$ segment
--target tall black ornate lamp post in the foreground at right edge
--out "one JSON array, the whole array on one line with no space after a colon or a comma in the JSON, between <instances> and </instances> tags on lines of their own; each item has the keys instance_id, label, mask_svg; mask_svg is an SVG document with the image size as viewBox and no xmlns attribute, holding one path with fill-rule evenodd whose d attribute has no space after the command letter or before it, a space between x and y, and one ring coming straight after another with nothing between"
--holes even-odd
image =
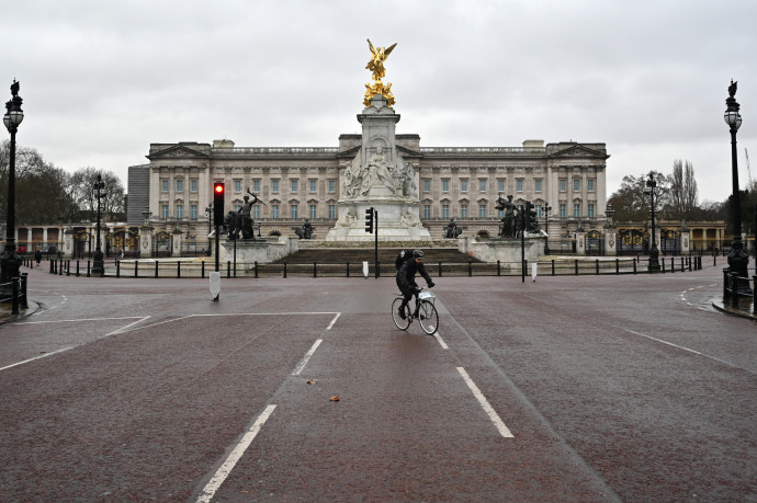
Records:
<instances>
[{"instance_id":1,"label":"tall black ornate lamp post in the foreground at right edge","mask_svg":"<svg viewBox=\"0 0 757 503\"><path fill-rule=\"evenodd\" d=\"M725 99L725 114L723 115L725 124L731 128L731 175L733 179L733 241L731 242L728 265L731 272L738 274L738 293L752 294L747 271L749 255L744 251L744 243L742 242L742 203L738 194L738 158L736 156L736 132L742 125L742 115L738 113L739 105L735 98L736 83L731 80L728 98Z\"/></svg>"}]
</instances>

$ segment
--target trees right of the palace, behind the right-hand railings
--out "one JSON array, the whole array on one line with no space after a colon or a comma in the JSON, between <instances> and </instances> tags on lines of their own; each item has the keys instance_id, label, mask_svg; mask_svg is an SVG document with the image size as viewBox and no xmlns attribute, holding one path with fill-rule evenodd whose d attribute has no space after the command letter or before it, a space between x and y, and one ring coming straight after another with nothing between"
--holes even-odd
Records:
<instances>
[{"instance_id":1,"label":"trees right of the palace, behind the right-hand railings","mask_svg":"<svg viewBox=\"0 0 757 503\"><path fill-rule=\"evenodd\" d=\"M655 219L707 221L725 220L727 232L733 232L734 220L732 198L723 202L699 203L699 191L691 162L676 159L670 174L652 171L657 183L655 190ZM652 210L651 197L645 193L649 173L639 176L625 175L620 188L608 199L608 206L615 212L615 221L646 221ZM755 231L755 205L757 205L757 181L750 181L739 191L742 207L742 231Z\"/></svg>"}]
</instances>

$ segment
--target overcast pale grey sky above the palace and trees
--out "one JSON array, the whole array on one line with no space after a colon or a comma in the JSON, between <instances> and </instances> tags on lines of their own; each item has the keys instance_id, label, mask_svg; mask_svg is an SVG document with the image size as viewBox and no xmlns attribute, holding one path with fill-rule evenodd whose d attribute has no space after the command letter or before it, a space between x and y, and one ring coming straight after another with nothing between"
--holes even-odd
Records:
<instances>
[{"instance_id":1,"label":"overcast pale grey sky above the palace and trees","mask_svg":"<svg viewBox=\"0 0 757 503\"><path fill-rule=\"evenodd\" d=\"M25 0L3 10L0 99L21 82L19 146L126 186L150 142L336 147L360 132L366 38L396 42L384 82L422 147L606 142L608 194L683 159L722 201L732 78L757 178L756 20L754 0Z\"/></svg>"}]
</instances>

